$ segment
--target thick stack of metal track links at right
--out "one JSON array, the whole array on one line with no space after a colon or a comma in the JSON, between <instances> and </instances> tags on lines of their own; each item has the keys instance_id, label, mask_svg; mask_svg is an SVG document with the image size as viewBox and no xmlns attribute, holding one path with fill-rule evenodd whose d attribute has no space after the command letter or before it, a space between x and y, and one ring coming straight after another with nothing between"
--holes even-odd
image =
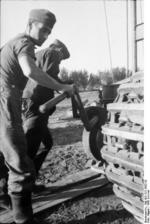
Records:
<instances>
[{"instance_id":1,"label":"thick stack of metal track links at right","mask_svg":"<svg viewBox=\"0 0 150 224\"><path fill-rule=\"evenodd\" d=\"M102 127L105 174L126 210L141 223L144 218L144 90L143 74L118 88L107 105L108 122Z\"/></svg>"}]
</instances>

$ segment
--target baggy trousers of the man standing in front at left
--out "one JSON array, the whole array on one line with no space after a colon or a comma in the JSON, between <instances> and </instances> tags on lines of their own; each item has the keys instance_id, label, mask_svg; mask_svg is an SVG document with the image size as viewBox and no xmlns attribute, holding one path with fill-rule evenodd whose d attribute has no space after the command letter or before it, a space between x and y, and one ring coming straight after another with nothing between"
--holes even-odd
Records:
<instances>
[{"instance_id":1,"label":"baggy trousers of the man standing in front at left","mask_svg":"<svg viewBox=\"0 0 150 224\"><path fill-rule=\"evenodd\" d=\"M27 141L21 117L22 91L17 88L1 89L0 97L0 153L8 171L8 194L32 191L35 181L33 161L27 154ZM0 176L2 170L0 171Z\"/></svg>"}]
</instances>

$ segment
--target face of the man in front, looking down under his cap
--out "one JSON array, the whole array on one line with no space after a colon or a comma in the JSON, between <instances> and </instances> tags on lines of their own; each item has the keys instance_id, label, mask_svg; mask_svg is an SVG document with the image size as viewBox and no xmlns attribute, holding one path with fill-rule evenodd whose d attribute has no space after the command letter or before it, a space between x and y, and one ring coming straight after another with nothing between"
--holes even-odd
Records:
<instances>
[{"instance_id":1,"label":"face of the man in front, looking down under his cap","mask_svg":"<svg viewBox=\"0 0 150 224\"><path fill-rule=\"evenodd\" d=\"M51 33L51 29L43 23L33 22L31 24L30 36L34 39L36 45L41 46Z\"/></svg>"}]
</instances>

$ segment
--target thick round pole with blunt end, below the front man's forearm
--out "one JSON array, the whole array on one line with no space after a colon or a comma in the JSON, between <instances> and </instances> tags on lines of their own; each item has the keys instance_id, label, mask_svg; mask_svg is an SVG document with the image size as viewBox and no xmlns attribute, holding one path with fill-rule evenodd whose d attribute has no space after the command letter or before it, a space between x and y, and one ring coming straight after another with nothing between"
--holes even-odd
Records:
<instances>
[{"instance_id":1,"label":"thick round pole with blunt end, below the front man's forearm","mask_svg":"<svg viewBox=\"0 0 150 224\"><path fill-rule=\"evenodd\" d=\"M59 96L56 96L55 98L47 101L46 103L42 104L39 107L39 111L41 113L46 113L48 110L50 110L51 108L53 108L56 104L58 104L59 102L61 102L62 100L64 100L67 97L66 93L62 93Z\"/></svg>"}]
</instances>

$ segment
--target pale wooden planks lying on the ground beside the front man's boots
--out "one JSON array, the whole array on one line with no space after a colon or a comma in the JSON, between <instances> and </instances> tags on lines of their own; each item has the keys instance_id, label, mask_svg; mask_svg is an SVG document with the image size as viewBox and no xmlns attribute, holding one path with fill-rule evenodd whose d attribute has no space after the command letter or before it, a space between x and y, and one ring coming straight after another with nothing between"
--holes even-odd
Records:
<instances>
[{"instance_id":1,"label":"pale wooden planks lying on the ground beside the front man's boots","mask_svg":"<svg viewBox=\"0 0 150 224\"><path fill-rule=\"evenodd\" d=\"M88 173L89 171L89 173ZM83 178L82 175L83 174ZM96 179L92 179L93 178ZM71 175L70 175L71 176ZM66 180L66 182L65 182ZM82 181L88 180L88 182L84 183ZM78 184L77 184L78 183ZM65 178L62 181L58 181L54 184L49 184L47 189L41 194L37 194L33 196L33 211L34 214L42 212L45 209L51 208L52 206L58 205L62 202L85 194L88 191L91 191L95 188L101 187L104 184L107 184L108 180L106 177L101 176L97 172L94 172L91 169L86 171L81 171L75 175L72 175L72 178ZM59 185L58 185L59 184ZM75 186L74 186L75 184ZM66 187L70 185L70 189L66 189ZM52 187L56 187L55 193L51 192ZM57 191L62 188L61 192ZM0 212L0 223L11 223L12 213L10 211L3 210Z\"/></svg>"}]
</instances>

